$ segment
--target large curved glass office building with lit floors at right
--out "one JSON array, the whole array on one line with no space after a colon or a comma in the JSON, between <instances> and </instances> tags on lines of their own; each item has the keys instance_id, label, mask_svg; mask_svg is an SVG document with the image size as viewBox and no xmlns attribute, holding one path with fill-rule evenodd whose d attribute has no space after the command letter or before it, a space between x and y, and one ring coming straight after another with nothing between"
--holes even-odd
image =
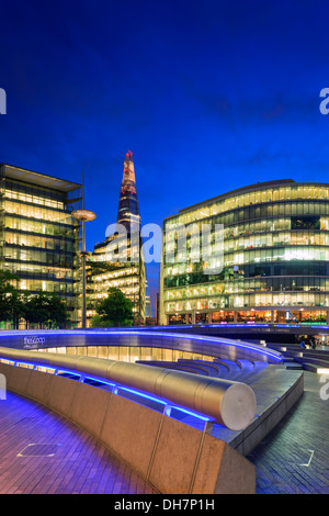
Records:
<instances>
[{"instance_id":1,"label":"large curved glass office building with lit floors at right","mask_svg":"<svg viewBox=\"0 0 329 516\"><path fill-rule=\"evenodd\" d=\"M200 234L224 225L220 271L205 273L207 263L193 259L190 224ZM183 259L180 237L168 242L173 225L188 228ZM329 322L327 183L262 182L183 209L163 222L163 255L166 245L174 260L162 259L161 324Z\"/></svg>"}]
</instances>

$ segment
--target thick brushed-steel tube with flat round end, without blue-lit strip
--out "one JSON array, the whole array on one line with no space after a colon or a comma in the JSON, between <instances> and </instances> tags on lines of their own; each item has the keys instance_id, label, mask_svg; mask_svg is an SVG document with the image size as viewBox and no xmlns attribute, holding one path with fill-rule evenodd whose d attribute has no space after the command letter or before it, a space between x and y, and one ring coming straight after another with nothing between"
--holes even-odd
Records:
<instances>
[{"instance_id":1,"label":"thick brushed-steel tube with flat round end, without blue-lit strip","mask_svg":"<svg viewBox=\"0 0 329 516\"><path fill-rule=\"evenodd\" d=\"M256 395L241 382L102 358L2 347L0 357L111 380L214 417L231 430L245 429L256 415Z\"/></svg>"}]
</instances>

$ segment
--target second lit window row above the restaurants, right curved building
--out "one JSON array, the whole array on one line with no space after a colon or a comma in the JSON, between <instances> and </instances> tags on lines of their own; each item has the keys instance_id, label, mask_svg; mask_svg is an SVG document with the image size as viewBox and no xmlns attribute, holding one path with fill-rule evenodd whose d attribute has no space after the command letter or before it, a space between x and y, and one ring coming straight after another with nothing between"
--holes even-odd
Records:
<instances>
[{"instance_id":1,"label":"second lit window row above the restaurants, right curved building","mask_svg":"<svg viewBox=\"0 0 329 516\"><path fill-rule=\"evenodd\" d=\"M192 298L213 296L232 293L250 292L329 292L329 278L265 278L242 281L218 282L211 285L194 285L190 288L170 289L164 292L164 300L188 300Z\"/></svg>"}]
</instances>

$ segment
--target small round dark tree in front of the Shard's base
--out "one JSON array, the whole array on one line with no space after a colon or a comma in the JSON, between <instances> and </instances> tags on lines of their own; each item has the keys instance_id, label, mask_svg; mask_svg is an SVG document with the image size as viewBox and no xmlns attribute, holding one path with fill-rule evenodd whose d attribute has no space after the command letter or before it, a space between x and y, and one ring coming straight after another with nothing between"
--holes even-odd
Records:
<instances>
[{"instance_id":1,"label":"small round dark tree in front of the Shard's base","mask_svg":"<svg viewBox=\"0 0 329 516\"><path fill-rule=\"evenodd\" d=\"M134 321L133 302L116 288L109 290L109 295L98 306L99 323L109 326L129 326Z\"/></svg>"}]
</instances>

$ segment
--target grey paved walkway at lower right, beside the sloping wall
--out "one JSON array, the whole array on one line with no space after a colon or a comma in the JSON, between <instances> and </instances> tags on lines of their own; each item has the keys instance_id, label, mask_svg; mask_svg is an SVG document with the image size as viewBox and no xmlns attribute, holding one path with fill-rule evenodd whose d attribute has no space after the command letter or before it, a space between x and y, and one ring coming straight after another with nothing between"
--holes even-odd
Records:
<instances>
[{"instance_id":1,"label":"grey paved walkway at lower right, beside the sloping wall","mask_svg":"<svg viewBox=\"0 0 329 516\"><path fill-rule=\"evenodd\" d=\"M329 493L329 375L304 372L304 394L253 449L258 494Z\"/></svg>"}]
</instances>

